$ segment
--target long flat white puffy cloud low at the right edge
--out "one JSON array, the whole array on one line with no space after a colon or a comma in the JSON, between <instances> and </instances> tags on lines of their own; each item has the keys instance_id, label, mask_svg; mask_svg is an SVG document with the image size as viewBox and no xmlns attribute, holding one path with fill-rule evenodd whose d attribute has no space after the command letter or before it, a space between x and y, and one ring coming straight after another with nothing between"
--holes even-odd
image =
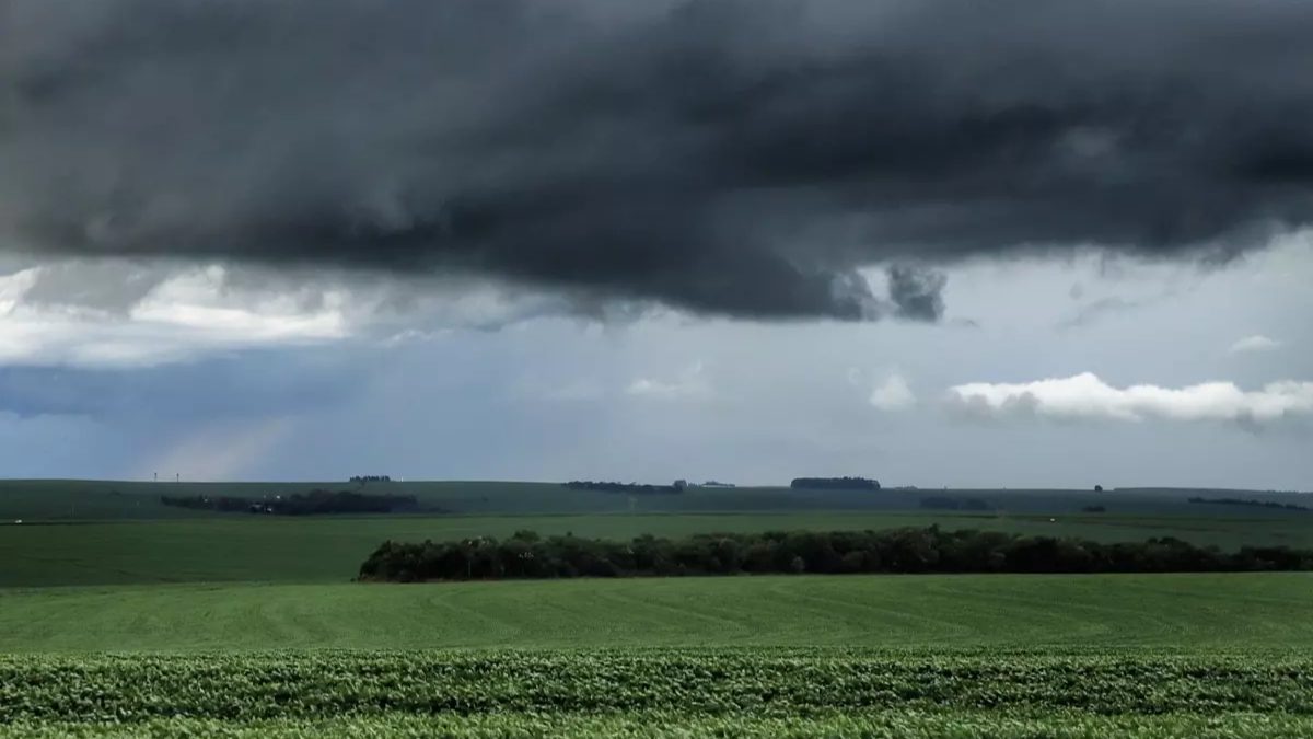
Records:
<instances>
[{"instance_id":1,"label":"long flat white puffy cloud low at the right edge","mask_svg":"<svg viewBox=\"0 0 1313 739\"><path fill-rule=\"evenodd\" d=\"M1061 419L1234 421L1270 423L1313 416L1313 383L1279 381L1258 391L1234 383L1201 383L1183 388L1112 387L1096 375L1033 383L969 383L948 391L961 410L986 416L1033 414Z\"/></svg>"}]
</instances>

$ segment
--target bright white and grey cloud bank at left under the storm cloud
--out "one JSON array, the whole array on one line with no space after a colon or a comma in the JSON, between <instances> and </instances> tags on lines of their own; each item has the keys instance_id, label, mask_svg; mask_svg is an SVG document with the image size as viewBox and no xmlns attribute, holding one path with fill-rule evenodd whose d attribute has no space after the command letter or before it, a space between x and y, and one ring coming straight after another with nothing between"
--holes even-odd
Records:
<instances>
[{"instance_id":1,"label":"bright white and grey cloud bank at left under the storm cloud","mask_svg":"<svg viewBox=\"0 0 1313 739\"><path fill-rule=\"evenodd\" d=\"M0 271L0 366L154 367L351 338L395 346L562 312L559 298L474 280L51 262Z\"/></svg>"}]
</instances>

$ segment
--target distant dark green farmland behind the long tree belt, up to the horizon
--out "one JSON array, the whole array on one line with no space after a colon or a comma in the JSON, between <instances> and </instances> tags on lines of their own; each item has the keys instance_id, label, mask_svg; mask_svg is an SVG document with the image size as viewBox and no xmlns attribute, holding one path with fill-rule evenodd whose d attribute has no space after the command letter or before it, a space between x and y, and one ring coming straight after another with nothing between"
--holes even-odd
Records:
<instances>
[{"instance_id":1,"label":"distant dark green farmland behind the long tree belt, up to the horizon","mask_svg":"<svg viewBox=\"0 0 1313 739\"><path fill-rule=\"evenodd\" d=\"M416 496L445 512L274 517L160 504L160 496L293 494L314 488ZM0 586L129 583L344 583L385 540L540 534L632 539L714 531L930 526L1103 542L1176 536L1197 544L1313 547L1313 513L1194 505L1199 490L790 490L693 488L629 496L550 483L0 481ZM999 510L926 510L923 496L982 498ZM1259 493L1242 493L1241 497ZM1229 493L1237 496L1237 493ZM1279 500L1288 500L1279 498ZM1302 498L1295 498L1302 500ZM1098 502L1103 513L1083 513ZM16 523L22 521L21 523Z\"/></svg>"}]
</instances>

